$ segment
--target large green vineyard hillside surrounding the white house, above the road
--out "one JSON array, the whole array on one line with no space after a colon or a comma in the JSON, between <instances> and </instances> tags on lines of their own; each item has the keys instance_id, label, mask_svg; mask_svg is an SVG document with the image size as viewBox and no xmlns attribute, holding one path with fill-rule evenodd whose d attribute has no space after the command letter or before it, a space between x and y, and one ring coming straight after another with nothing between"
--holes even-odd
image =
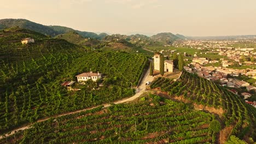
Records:
<instances>
[{"instance_id":1,"label":"large green vineyard hillside surrounding the white house, above the road","mask_svg":"<svg viewBox=\"0 0 256 144\"><path fill-rule=\"evenodd\" d=\"M143 55L87 52L66 40L30 31L1 34L0 134L39 118L128 97L147 64ZM28 36L35 43L22 45L20 40ZM76 80L75 75L90 70L104 75L103 87L76 84L82 89L78 92L61 87L63 81Z\"/></svg>"}]
</instances>

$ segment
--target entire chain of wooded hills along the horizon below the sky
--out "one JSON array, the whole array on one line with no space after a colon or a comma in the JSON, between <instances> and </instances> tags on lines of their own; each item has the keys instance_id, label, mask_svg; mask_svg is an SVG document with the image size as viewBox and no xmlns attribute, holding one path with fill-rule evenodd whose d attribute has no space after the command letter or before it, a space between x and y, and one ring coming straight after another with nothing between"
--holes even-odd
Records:
<instances>
[{"instance_id":1,"label":"entire chain of wooded hills along the horizon below the sky","mask_svg":"<svg viewBox=\"0 0 256 144\"><path fill-rule=\"evenodd\" d=\"M56 37L60 34L75 32L81 35L84 38L94 38L103 41L112 41L117 39L124 39L129 43L136 45L145 45L145 44L153 44L160 43L164 45L168 45L173 43L174 40L177 39L185 39L184 35L181 34L172 34L172 33L159 33L153 35L152 37L148 37L142 34L133 34L133 35L122 35L122 34L112 34L108 35L107 33L96 34L92 32L83 32L78 31L73 28L63 27L63 26L45 26L36 22L28 21L25 19L2 19L0 20L0 29L11 28L11 27L20 27L30 29L32 31L36 31L42 33L44 35L51 35L51 37ZM70 38L69 38L70 39Z\"/></svg>"}]
</instances>

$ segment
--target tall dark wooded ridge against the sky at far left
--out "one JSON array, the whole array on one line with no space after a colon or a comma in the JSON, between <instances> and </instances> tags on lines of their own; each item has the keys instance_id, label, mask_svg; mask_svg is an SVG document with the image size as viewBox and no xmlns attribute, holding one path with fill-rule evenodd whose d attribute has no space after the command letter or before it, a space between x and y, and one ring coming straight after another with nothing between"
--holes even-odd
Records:
<instances>
[{"instance_id":1,"label":"tall dark wooded ridge against the sky at far left","mask_svg":"<svg viewBox=\"0 0 256 144\"><path fill-rule=\"evenodd\" d=\"M21 28L30 29L32 31L36 31L45 35L51 35L52 37L55 37L56 35L68 33L68 32L77 32L83 37L88 38L97 38L101 39L102 35L98 36L96 33L92 32L82 32L77 31L75 29L69 28L69 27L62 27L62 26L44 26L36 22L28 21L25 19L2 19L0 20L0 29L5 27L16 27L19 26Z\"/></svg>"}]
</instances>

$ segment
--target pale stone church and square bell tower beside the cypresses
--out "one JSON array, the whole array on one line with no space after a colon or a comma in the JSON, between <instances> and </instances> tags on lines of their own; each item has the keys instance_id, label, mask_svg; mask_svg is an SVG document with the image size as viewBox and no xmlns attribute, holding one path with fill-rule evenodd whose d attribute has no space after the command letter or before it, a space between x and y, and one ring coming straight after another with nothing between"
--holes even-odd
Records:
<instances>
[{"instance_id":1,"label":"pale stone church and square bell tower beside the cypresses","mask_svg":"<svg viewBox=\"0 0 256 144\"><path fill-rule=\"evenodd\" d=\"M172 61L165 60L164 65L165 65L165 72L173 72L174 65L173 65ZM160 70L160 55L159 54L154 55L154 69Z\"/></svg>"}]
</instances>

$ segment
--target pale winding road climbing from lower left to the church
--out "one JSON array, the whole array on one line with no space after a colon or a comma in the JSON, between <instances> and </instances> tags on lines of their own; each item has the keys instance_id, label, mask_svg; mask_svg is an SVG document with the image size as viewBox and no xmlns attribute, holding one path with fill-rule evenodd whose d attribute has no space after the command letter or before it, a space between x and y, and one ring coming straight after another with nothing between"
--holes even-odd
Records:
<instances>
[{"instance_id":1,"label":"pale winding road climbing from lower left to the church","mask_svg":"<svg viewBox=\"0 0 256 144\"><path fill-rule=\"evenodd\" d=\"M129 102L129 101L132 101L132 100L135 100L136 98L138 98L142 93L144 93L146 91L146 82L147 81L153 81L154 77L152 76L149 76L149 68L146 72L146 74L144 75L141 83L139 84L137 90L136 90L136 94L133 95L132 97L130 98L126 98L126 99L122 99L122 100L118 100L118 101L115 101L114 104L121 104L121 103L126 103L126 102ZM110 104L103 104L104 107L109 107ZM82 112L82 111L87 111L87 110L91 110L91 109L94 109L98 106L95 106L95 107L91 107L91 108L87 108L87 109L83 109L83 110L78 110L78 111L73 111L73 112L68 112L68 113L63 113L63 114L60 114L60 115L57 115L57 116L53 116L53 117L48 117L48 118L44 118L44 119L39 119L37 122L44 122L44 121L47 121L48 119L50 118L56 118L56 117L61 117L61 116L66 116L66 115L72 115L74 113L79 113L79 112ZM32 124L33 125L33 124ZM28 124L24 127L20 127L18 129L15 129L13 131L10 131L9 134L5 134L5 136L10 136L10 135L13 135L15 133L15 131L19 131L19 130L25 130L25 129L28 129L31 127L31 124ZM0 136L0 139L3 139L4 136L1 135Z\"/></svg>"}]
</instances>

